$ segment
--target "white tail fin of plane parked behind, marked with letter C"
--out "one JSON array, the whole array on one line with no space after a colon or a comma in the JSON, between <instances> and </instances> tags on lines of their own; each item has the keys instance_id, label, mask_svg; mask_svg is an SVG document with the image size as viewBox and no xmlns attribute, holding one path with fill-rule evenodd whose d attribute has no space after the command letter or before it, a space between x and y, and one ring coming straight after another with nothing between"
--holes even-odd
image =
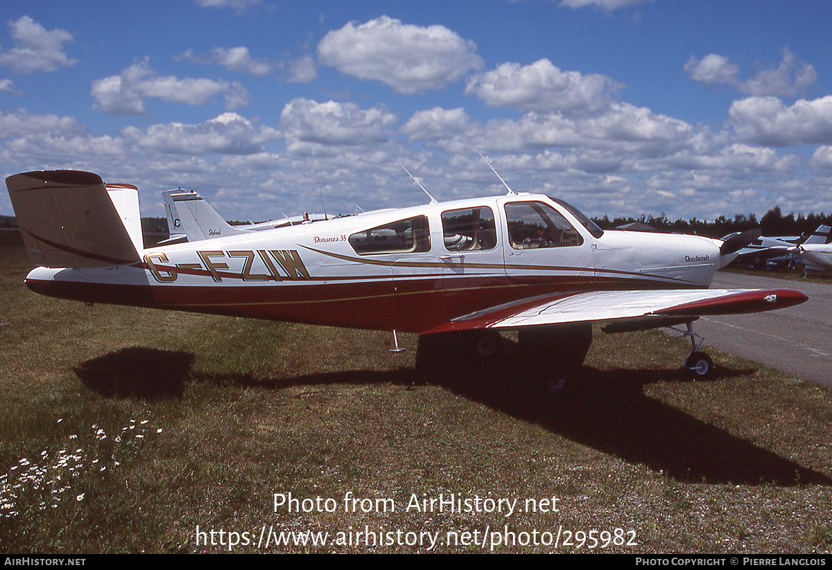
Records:
<instances>
[{"instance_id":1,"label":"white tail fin of plane parked behind, marked with letter C","mask_svg":"<svg viewBox=\"0 0 832 570\"><path fill-rule=\"evenodd\" d=\"M220 214L193 190L166 190L161 195L165 202L171 243L181 234L186 235L189 242L196 242L201 239L245 233L245 230L235 228L220 218Z\"/></svg>"}]
</instances>

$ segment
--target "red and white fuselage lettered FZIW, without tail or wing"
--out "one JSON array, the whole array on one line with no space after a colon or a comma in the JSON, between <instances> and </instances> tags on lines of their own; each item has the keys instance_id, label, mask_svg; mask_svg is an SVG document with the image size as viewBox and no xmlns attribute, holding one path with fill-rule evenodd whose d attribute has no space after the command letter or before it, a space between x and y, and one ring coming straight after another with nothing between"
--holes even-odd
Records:
<instances>
[{"instance_id":1,"label":"red and white fuselage lettered FZIW, without tail or wing","mask_svg":"<svg viewBox=\"0 0 832 570\"><path fill-rule=\"evenodd\" d=\"M547 196L512 194L220 234L147 248L138 263L35 268L27 285L84 302L426 332L558 292L708 287L720 243L601 233Z\"/></svg>"}]
</instances>

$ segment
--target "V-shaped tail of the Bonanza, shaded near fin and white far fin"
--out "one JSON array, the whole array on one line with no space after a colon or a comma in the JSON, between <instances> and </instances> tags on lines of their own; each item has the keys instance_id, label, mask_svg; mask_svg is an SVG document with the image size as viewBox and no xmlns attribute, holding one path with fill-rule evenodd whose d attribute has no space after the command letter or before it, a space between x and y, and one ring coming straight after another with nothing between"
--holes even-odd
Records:
<instances>
[{"instance_id":1,"label":"V-shaped tail of the Bonanza, shaded near fin and white far fin","mask_svg":"<svg viewBox=\"0 0 832 570\"><path fill-rule=\"evenodd\" d=\"M6 185L32 263L99 268L140 260L135 186L105 186L98 174L77 170L14 174Z\"/></svg>"}]
</instances>

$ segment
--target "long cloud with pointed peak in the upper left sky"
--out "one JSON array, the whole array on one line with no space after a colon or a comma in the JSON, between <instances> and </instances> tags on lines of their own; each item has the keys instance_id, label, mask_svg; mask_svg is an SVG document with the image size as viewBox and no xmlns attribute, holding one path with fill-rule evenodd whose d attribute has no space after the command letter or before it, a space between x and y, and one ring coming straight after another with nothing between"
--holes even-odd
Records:
<instances>
[{"instance_id":1,"label":"long cloud with pointed peak in the upper left sky","mask_svg":"<svg viewBox=\"0 0 832 570\"><path fill-rule=\"evenodd\" d=\"M93 81L90 95L95 99L96 107L110 115L141 115L146 110L145 100L149 98L205 105L215 96L224 95L229 111L250 102L248 91L240 83L156 76L147 59L119 75Z\"/></svg>"}]
</instances>

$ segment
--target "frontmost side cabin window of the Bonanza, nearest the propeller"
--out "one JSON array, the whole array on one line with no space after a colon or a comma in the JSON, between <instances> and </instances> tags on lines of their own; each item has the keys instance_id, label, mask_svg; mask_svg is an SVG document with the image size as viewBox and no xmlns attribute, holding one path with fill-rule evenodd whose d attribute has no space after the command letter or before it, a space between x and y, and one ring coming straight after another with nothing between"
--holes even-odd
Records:
<instances>
[{"instance_id":1,"label":"frontmost side cabin window of the Bonanza, nearest the propeller","mask_svg":"<svg viewBox=\"0 0 832 570\"><path fill-rule=\"evenodd\" d=\"M556 209L542 202L509 202L505 206L508 242L515 249L581 245L583 238Z\"/></svg>"}]
</instances>

